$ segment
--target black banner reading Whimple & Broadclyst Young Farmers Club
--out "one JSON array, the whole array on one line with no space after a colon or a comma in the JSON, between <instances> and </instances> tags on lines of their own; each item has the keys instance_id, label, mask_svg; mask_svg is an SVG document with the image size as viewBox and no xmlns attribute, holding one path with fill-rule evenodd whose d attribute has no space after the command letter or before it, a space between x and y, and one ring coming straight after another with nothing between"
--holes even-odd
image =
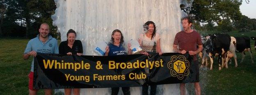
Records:
<instances>
[{"instance_id":1,"label":"black banner reading Whimple & Broadclyst Young Farmers Club","mask_svg":"<svg viewBox=\"0 0 256 95\"><path fill-rule=\"evenodd\" d=\"M109 88L198 81L198 64L189 54L69 56L38 53L34 88Z\"/></svg>"}]
</instances>

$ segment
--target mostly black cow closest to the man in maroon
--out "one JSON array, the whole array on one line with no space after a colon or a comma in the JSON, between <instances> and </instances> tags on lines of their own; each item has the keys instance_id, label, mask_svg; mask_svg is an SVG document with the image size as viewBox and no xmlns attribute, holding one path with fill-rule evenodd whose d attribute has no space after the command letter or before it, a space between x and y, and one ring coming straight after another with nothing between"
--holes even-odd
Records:
<instances>
[{"instance_id":1,"label":"mostly black cow closest to the man in maroon","mask_svg":"<svg viewBox=\"0 0 256 95\"><path fill-rule=\"evenodd\" d=\"M218 57L219 70L220 66L224 66L224 60L228 58L228 51L230 47L231 37L229 34L213 34L203 43L203 48L210 57L210 70L213 69L213 58ZM221 64L222 63L222 64Z\"/></svg>"}]
</instances>

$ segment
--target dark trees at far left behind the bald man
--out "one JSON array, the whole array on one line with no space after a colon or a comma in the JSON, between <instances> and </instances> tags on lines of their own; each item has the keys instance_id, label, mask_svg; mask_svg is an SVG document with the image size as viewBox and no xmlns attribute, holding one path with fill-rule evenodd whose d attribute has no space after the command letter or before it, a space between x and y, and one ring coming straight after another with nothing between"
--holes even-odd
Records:
<instances>
[{"instance_id":1,"label":"dark trees at far left behind the bald man","mask_svg":"<svg viewBox=\"0 0 256 95\"><path fill-rule=\"evenodd\" d=\"M6 5L6 11L1 15L3 17L1 20L3 23L0 25L1 34L2 30L7 34L17 34L20 32L19 29L25 27L25 36L28 38L38 34L41 23L48 23L50 28L55 30L50 17L56 9L54 0L1 0L0 2ZM0 8L4 9L2 5Z\"/></svg>"}]
</instances>

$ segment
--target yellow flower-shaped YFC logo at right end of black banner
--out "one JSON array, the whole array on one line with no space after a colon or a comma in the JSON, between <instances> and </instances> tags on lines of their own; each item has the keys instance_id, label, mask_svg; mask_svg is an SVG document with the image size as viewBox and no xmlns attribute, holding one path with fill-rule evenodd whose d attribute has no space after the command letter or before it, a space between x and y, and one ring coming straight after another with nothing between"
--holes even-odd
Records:
<instances>
[{"instance_id":1,"label":"yellow flower-shaped YFC logo at right end of black banner","mask_svg":"<svg viewBox=\"0 0 256 95\"><path fill-rule=\"evenodd\" d=\"M188 68L190 67L190 62L183 55L178 57L172 56L171 61L167 63L167 67L171 70L171 76L178 77L181 80L189 75Z\"/></svg>"}]
</instances>

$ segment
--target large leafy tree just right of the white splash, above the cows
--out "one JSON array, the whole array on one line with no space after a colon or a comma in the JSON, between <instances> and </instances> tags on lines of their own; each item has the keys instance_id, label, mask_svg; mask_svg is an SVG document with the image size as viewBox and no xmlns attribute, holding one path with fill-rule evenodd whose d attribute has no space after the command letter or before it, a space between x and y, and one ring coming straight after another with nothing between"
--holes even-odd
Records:
<instances>
[{"instance_id":1,"label":"large leafy tree just right of the white splash, above the cows","mask_svg":"<svg viewBox=\"0 0 256 95\"><path fill-rule=\"evenodd\" d=\"M220 22L227 18L239 20L241 4L242 0L194 0L190 16L201 23Z\"/></svg>"}]
</instances>

